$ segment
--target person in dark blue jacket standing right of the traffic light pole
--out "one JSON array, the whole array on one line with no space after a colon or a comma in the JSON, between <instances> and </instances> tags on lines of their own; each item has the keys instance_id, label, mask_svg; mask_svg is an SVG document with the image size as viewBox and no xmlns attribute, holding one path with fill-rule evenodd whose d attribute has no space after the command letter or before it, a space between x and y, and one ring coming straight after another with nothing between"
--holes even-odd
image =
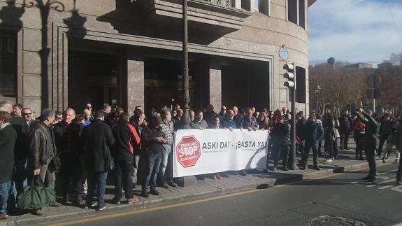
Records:
<instances>
[{"instance_id":1,"label":"person in dark blue jacket standing right of the traffic light pole","mask_svg":"<svg viewBox=\"0 0 402 226\"><path fill-rule=\"evenodd\" d=\"M303 156L301 157L301 168L300 169L306 169L307 167L307 160L308 160L308 154L310 153L310 148L313 149L313 164L315 170L320 170L320 167L318 167L318 142L320 141L320 138L322 134L324 134L324 128L322 128L322 125L320 122L316 121L315 114L310 115L308 118L306 124L304 125L304 132L306 136L304 138L306 139L306 146L305 150L303 151Z\"/></svg>"}]
</instances>

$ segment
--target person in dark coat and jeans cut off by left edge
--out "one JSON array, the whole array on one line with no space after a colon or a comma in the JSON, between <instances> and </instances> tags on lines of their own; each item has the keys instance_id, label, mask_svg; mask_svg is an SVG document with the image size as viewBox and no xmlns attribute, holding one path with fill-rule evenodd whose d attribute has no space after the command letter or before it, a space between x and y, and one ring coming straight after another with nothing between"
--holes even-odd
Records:
<instances>
[{"instance_id":1,"label":"person in dark coat and jeans cut off by left edge","mask_svg":"<svg viewBox=\"0 0 402 226\"><path fill-rule=\"evenodd\" d=\"M17 132L10 125L11 115L0 111L0 220L8 218L7 202L14 169L14 146Z\"/></svg>"}]
</instances>

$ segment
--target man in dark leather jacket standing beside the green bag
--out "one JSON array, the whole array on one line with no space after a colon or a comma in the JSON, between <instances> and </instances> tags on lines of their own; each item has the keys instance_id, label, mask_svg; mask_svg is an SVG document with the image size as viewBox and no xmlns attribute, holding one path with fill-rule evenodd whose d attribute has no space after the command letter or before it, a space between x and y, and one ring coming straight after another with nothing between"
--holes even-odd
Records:
<instances>
[{"instance_id":1,"label":"man in dark leather jacket standing beside the green bag","mask_svg":"<svg viewBox=\"0 0 402 226\"><path fill-rule=\"evenodd\" d=\"M45 185L50 189L55 189L55 167L52 162L57 155L55 136L51 124L55 120L55 111L44 109L38 122L31 123L29 131L29 158L28 164L30 174L38 175ZM33 178L31 178L33 180ZM59 207L62 204L55 203L52 206ZM41 209L34 211L36 215L43 215Z\"/></svg>"}]
</instances>

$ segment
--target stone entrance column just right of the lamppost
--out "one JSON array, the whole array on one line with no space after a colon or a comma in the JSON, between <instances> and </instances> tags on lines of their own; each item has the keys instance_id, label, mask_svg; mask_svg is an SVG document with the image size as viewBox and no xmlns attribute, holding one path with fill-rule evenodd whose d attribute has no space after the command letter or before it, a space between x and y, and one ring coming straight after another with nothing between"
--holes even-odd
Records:
<instances>
[{"instance_id":1,"label":"stone entrance column just right of the lamppost","mask_svg":"<svg viewBox=\"0 0 402 226\"><path fill-rule=\"evenodd\" d=\"M222 71L220 61L210 59L209 66L209 103L215 111L222 106Z\"/></svg>"}]
</instances>

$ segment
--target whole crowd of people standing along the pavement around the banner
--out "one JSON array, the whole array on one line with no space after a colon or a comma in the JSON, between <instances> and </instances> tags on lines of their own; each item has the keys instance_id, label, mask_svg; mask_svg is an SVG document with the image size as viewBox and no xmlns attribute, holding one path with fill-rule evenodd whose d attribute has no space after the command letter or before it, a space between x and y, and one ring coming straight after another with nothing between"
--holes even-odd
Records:
<instances>
[{"instance_id":1,"label":"whole crowd of people standing along the pavement around the banner","mask_svg":"<svg viewBox=\"0 0 402 226\"><path fill-rule=\"evenodd\" d=\"M93 111L87 102L76 112L67 108L63 113L43 109L34 118L31 108L21 104L0 102L0 219L8 218L8 211L15 211L19 195L27 181L41 179L50 189L57 190L62 206L74 202L85 209L106 208L105 190L108 174L113 172L114 204L132 204L139 199L134 187L141 184L141 196L159 195L157 187L175 187L173 181L173 138L175 130L182 129L183 110L178 104L173 108L152 108L147 115L141 106L134 114L117 106L104 104ZM310 149L313 150L313 169L320 170L318 157L326 162L336 160L338 149L348 150L348 139L353 134L356 142L356 160L366 160L370 172L365 180L375 181L375 158L385 160L393 146L402 150L402 118L392 113L376 118L371 111L359 108L353 117L347 110L340 116L328 108L324 115L311 112L306 119L303 111L292 119L286 108L258 112L254 107L239 109L222 106L215 113L213 105L198 111L189 111L192 129L264 129L270 134L268 159L273 162L267 170L275 171L282 160L282 170L293 169L292 120L296 120L296 150L301 155L299 168L308 167ZM379 146L377 136L379 130ZM339 143L338 143L339 140ZM387 146L383 151L383 146ZM324 153L322 153L324 142ZM397 161L400 159L397 153ZM377 154L377 155L375 155ZM401 169L396 181L401 181ZM238 174L246 175L245 171ZM221 179L220 174L210 175ZM124 190L124 193L123 193ZM86 195L86 200L83 197ZM96 201L94 202L94 196ZM33 211L43 215L41 209Z\"/></svg>"}]
</instances>

